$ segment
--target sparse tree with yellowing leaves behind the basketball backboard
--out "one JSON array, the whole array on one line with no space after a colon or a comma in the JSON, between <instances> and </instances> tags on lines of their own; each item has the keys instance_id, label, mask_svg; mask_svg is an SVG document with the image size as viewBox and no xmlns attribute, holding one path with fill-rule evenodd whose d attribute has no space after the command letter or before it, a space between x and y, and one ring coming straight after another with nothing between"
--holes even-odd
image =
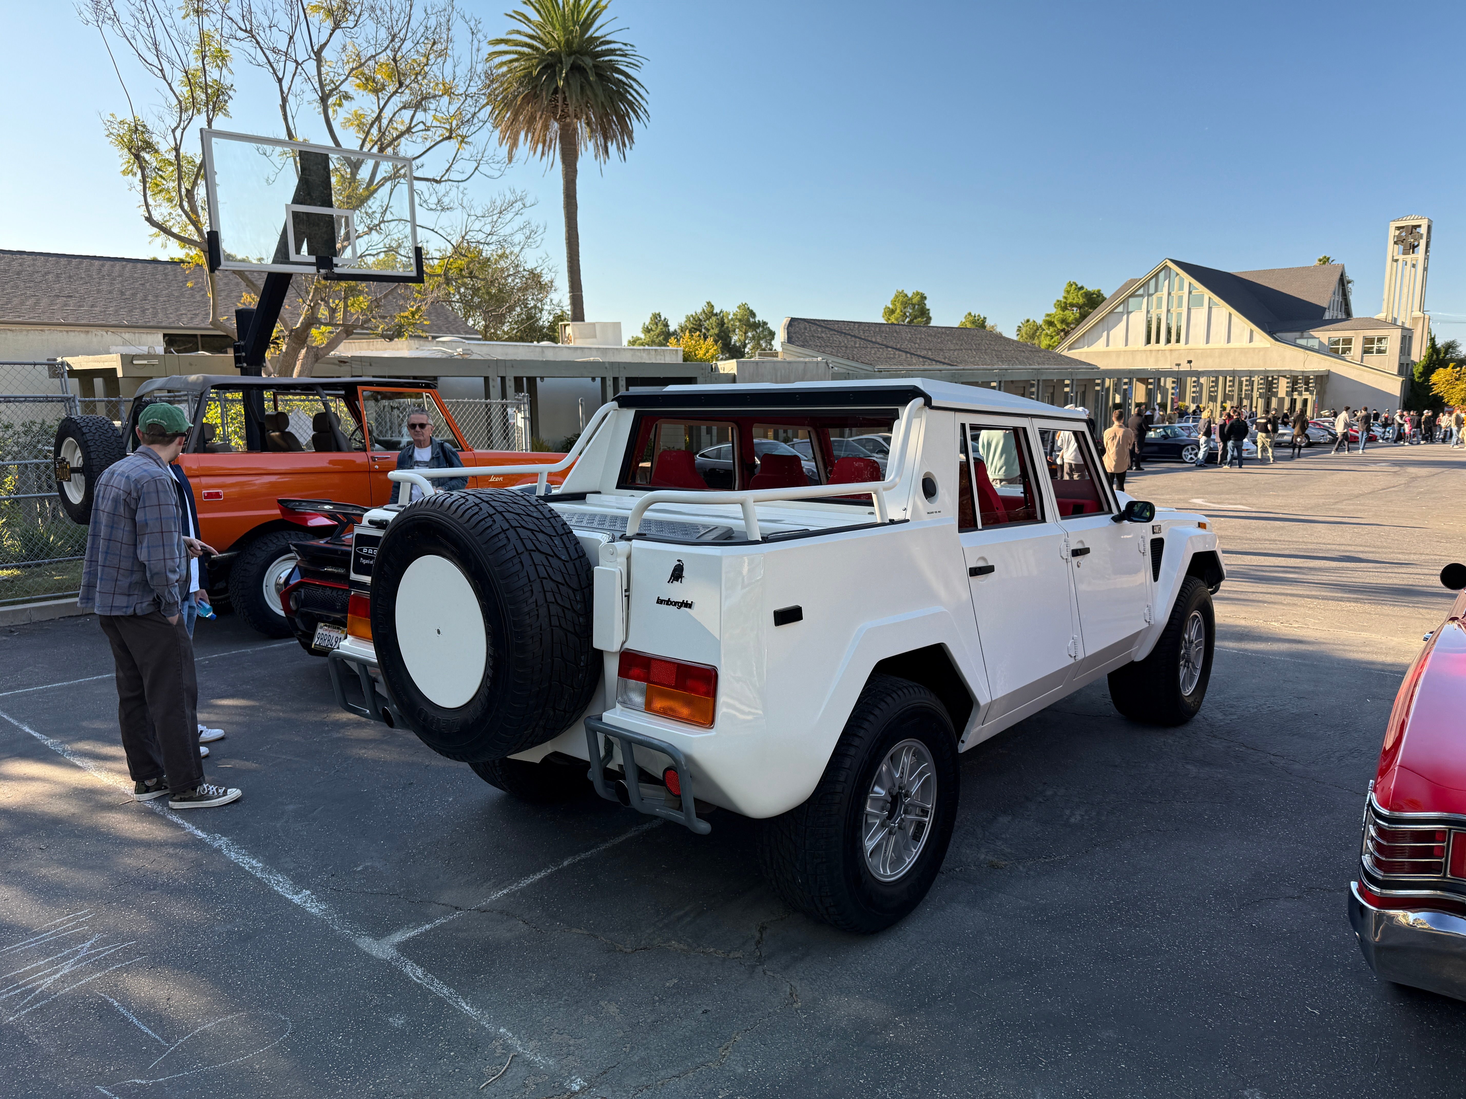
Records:
<instances>
[{"instance_id":1,"label":"sparse tree with yellowing leaves behind the basketball backboard","mask_svg":"<svg viewBox=\"0 0 1466 1099\"><path fill-rule=\"evenodd\" d=\"M198 130L229 119L240 64L276 89L274 101L261 106L279 119L286 139L415 161L419 236L430 262L465 246L490 255L534 245L538 230L523 221L523 195L507 192L485 204L463 196L469 180L496 167L488 108L494 81L476 23L452 0L82 0L79 13L108 50L130 56L135 64L123 72L142 73L142 88L123 82L128 113L107 116L107 141L154 239L198 270L210 293L210 324L230 338L235 308L254 305L262 280L207 270ZM353 182L358 234L387 226L390 199L402 185L390 170ZM388 338L421 331L428 303L443 293L441 280L405 287L296 275L268 369L309 375L358 331Z\"/></svg>"}]
</instances>

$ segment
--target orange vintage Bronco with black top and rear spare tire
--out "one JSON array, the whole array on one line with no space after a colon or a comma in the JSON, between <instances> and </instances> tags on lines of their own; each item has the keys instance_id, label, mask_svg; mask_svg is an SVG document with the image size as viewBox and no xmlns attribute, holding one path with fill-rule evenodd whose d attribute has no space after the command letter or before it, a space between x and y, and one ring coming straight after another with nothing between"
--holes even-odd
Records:
<instances>
[{"instance_id":1,"label":"orange vintage Bronco with black top and rear spare tire","mask_svg":"<svg viewBox=\"0 0 1466 1099\"><path fill-rule=\"evenodd\" d=\"M553 465L560 454L474 450L437 393L437 382L391 378L155 378L138 388L128 419L67 416L56 431L54 465L62 507L91 520L97 478L136 444L138 415L152 402L183 409L194 425L179 466L198 501L199 536L210 558L210 593L227 598L254 629L289 637L280 592L296 564L301 522L280 498L383 506L397 486L387 473L408 445L408 415L425 412L435 440L465 466ZM120 431L119 431L120 426ZM507 488L534 476L475 476L469 488ZM564 479L554 475L553 482ZM333 520L323 519L325 528Z\"/></svg>"}]
</instances>

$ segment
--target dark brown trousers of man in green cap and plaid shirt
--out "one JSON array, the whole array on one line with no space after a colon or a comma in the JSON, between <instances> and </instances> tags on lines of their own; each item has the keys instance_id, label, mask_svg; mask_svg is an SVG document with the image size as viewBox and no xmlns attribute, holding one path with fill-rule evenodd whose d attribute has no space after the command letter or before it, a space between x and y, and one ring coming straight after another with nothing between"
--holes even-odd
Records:
<instances>
[{"instance_id":1,"label":"dark brown trousers of man in green cap and plaid shirt","mask_svg":"<svg viewBox=\"0 0 1466 1099\"><path fill-rule=\"evenodd\" d=\"M169 790L182 793L204 781L198 755L198 680L194 642L161 611L98 614L117 667L117 722L128 774L135 782L167 775Z\"/></svg>"}]
</instances>

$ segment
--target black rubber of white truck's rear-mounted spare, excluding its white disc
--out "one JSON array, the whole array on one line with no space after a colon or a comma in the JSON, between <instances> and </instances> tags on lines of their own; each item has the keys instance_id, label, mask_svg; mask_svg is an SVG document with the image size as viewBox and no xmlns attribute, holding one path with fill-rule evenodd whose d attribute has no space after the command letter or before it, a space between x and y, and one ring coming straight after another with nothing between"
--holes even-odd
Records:
<instances>
[{"instance_id":1,"label":"black rubber of white truck's rear-mounted spare, excluding its white disc","mask_svg":"<svg viewBox=\"0 0 1466 1099\"><path fill-rule=\"evenodd\" d=\"M485 620L497 610L507 634L503 645L490 640L491 721L471 743L453 743L463 739L456 719L405 708L409 696L400 686L408 673L393 626L400 571L390 573L416 529L428 535L449 529L472 539L487 571L475 582L491 589L485 604L494 601L484 608ZM372 569L372 633L387 687L419 739L449 759L472 762L523 752L569 728L591 703L601 671L591 645L591 560L570 528L525 492L438 492L397 516Z\"/></svg>"}]
</instances>

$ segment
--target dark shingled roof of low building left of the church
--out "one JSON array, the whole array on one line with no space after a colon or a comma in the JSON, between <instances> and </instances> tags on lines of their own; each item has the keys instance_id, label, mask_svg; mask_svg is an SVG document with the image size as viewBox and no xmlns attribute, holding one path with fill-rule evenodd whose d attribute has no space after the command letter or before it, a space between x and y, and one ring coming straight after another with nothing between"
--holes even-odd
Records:
<instances>
[{"instance_id":1,"label":"dark shingled roof of low building left of the church","mask_svg":"<svg viewBox=\"0 0 1466 1099\"><path fill-rule=\"evenodd\" d=\"M1078 362L1070 355L1019 343L985 328L946 328L922 324L872 321L821 321L787 317L780 340L815 355L887 369L1063 368Z\"/></svg>"}]
</instances>

